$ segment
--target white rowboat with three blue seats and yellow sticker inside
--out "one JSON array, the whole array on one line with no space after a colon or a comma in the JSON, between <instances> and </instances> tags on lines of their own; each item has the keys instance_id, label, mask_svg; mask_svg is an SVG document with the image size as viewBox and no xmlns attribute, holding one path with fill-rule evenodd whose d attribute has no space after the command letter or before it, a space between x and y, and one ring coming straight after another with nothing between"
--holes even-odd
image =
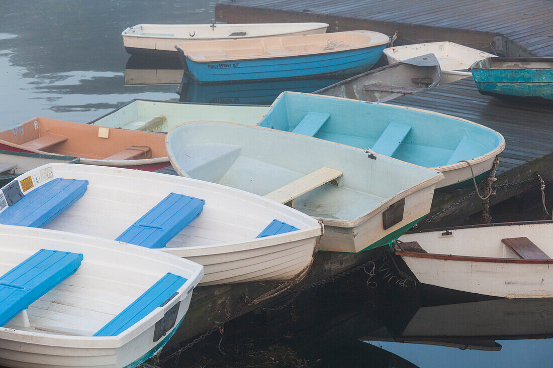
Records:
<instances>
[{"instance_id":1,"label":"white rowboat with three blue seats and yellow sticker inside","mask_svg":"<svg viewBox=\"0 0 553 368\"><path fill-rule=\"evenodd\" d=\"M138 170L45 165L0 191L0 224L155 248L205 267L201 285L284 281L311 260L317 220L251 193Z\"/></svg>"}]
</instances>

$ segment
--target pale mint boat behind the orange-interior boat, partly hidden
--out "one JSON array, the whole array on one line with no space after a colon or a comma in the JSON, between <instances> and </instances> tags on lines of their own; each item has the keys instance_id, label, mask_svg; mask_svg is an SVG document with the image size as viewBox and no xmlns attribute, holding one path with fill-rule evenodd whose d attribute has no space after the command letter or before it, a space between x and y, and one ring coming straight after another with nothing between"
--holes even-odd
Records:
<instances>
[{"instance_id":1,"label":"pale mint boat behind the orange-interior boat, partly hidden","mask_svg":"<svg viewBox=\"0 0 553 368\"><path fill-rule=\"evenodd\" d=\"M133 99L88 124L167 133L178 124L195 120L230 120L254 125L267 112L267 109L267 106L228 106Z\"/></svg>"}]
</instances>

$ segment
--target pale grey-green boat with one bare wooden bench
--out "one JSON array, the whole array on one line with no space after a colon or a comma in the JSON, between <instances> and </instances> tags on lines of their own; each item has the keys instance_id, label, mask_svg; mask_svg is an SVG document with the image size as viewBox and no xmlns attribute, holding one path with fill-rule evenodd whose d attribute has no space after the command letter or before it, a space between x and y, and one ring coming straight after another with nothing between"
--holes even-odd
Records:
<instances>
[{"instance_id":1,"label":"pale grey-green boat with one bare wooden bench","mask_svg":"<svg viewBox=\"0 0 553 368\"><path fill-rule=\"evenodd\" d=\"M288 203L322 220L320 249L389 243L430 211L443 175L364 150L243 124L192 122L166 137L181 176Z\"/></svg>"}]
</instances>

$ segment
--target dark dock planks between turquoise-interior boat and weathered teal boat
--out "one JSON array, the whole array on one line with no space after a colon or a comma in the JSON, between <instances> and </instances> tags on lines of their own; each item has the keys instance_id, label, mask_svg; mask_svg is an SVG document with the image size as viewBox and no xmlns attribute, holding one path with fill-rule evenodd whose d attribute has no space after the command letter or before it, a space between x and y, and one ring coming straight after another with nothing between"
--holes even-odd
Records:
<instances>
[{"instance_id":1,"label":"dark dock planks between turquoise-interior boat and weathered teal boat","mask_svg":"<svg viewBox=\"0 0 553 368\"><path fill-rule=\"evenodd\" d=\"M505 150L499 155L495 186L534 178L536 171L540 172L545 180L553 178L553 106L515 104L483 96L478 93L471 78L408 94L388 103L454 115L503 134ZM536 186L537 180L523 185L499 187L497 194L490 198L490 203L497 204ZM473 188L469 188L436 193L430 213L434 214L447 208L472 190ZM431 224L423 222L421 228L451 225L482 209L482 201L474 194Z\"/></svg>"}]
</instances>

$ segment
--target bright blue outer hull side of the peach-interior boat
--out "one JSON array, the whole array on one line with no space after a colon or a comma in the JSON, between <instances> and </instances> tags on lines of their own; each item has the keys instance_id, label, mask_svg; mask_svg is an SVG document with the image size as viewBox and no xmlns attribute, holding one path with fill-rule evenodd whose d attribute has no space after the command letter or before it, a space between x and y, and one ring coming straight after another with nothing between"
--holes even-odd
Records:
<instances>
[{"instance_id":1,"label":"bright blue outer hull side of the peach-interior boat","mask_svg":"<svg viewBox=\"0 0 553 368\"><path fill-rule=\"evenodd\" d=\"M225 62L195 62L186 57L183 64L185 64L185 71L199 82L259 81L321 76L342 77L371 69L382 56L382 50L385 47L386 45L377 45L363 49L315 55Z\"/></svg>"}]
</instances>

